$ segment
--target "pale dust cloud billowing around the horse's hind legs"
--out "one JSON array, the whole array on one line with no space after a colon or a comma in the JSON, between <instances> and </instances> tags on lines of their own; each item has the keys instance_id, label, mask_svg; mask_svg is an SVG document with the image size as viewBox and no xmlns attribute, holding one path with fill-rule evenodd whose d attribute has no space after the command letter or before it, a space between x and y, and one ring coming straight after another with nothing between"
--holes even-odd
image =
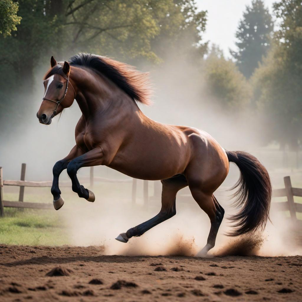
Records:
<instances>
[{"instance_id":1,"label":"pale dust cloud billowing around the horse's hind legs","mask_svg":"<svg viewBox=\"0 0 302 302\"><path fill-rule=\"evenodd\" d=\"M125 190L126 194L129 190ZM96 193L93 204L82 199L73 206L68 202L72 203L72 200L66 201L65 210L59 214L66 222L70 243L75 246L104 246L106 255L194 256L206 244L210 230L207 215L191 198L188 204L176 202L177 214L171 219L142 236L132 237L128 243L121 243L115 237L155 216L160 210L159 199L150 201L148 210L144 210L142 204L131 207L129 199L104 198L101 192ZM226 214L235 211L227 205L230 203L229 200L223 203ZM230 224L224 218L216 245L208 256L301 255L301 246L295 242L289 220L274 211L271 220L273 224L268 222L263 232L227 237L224 234L230 230Z\"/></svg>"}]
</instances>

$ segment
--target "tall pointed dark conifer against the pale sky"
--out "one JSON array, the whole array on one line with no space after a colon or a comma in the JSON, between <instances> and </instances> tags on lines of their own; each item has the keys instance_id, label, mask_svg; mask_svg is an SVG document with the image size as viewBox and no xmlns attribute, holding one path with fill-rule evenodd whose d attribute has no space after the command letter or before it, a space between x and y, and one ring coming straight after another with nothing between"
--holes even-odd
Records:
<instances>
[{"instance_id":1,"label":"tall pointed dark conifer against the pale sky","mask_svg":"<svg viewBox=\"0 0 302 302\"><path fill-rule=\"evenodd\" d=\"M272 31L273 21L263 1L255 0L251 6L246 6L236 32L238 50L230 51L246 78L252 75L267 54Z\"/></svg>"}]
</instances>

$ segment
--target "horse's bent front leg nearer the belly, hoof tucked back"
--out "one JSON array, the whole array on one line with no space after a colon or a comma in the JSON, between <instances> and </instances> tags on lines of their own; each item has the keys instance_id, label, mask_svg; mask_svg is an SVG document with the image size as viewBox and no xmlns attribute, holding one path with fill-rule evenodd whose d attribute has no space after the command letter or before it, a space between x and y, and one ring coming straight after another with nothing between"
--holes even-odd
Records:
<instances>
[{"instance_id":1,"label":"horse's bent front leg nearer the belly, hoof tucked back","mask_svg":"<svg viewBox=\"0 0 302 302\"><path fill-rule=\"evenodd\" d=\"M85 198L90 202L95 201L95 195L92 191L80 185L76 176L77 171L82 167L91 167L103 164L103 151L100 147L88 151L87 153L76 157L67 165L67 174L72 182L72 191L78 193L79 197Z\"/></svg>"}]
</instances>

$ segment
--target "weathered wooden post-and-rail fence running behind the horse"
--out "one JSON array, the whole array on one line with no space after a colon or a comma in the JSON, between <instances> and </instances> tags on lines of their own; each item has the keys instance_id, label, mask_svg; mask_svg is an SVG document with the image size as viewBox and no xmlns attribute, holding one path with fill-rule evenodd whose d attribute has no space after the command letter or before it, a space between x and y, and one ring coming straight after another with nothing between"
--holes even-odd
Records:
<instances>
[{"instance_id":1,"label":"weathered wooden post-and-rail fence running behind the horse","mask_svg":"<svg viewBox=\"0 0 302 302\"><path fill-rule=\"evenodd\" d=\"M0 216L4 215L4 207L17 207L17 208L35 208L35 209L49 209L53 208L52 203L36 203L36 202L24 202L24 188L25 187L51 187L52 181L47 182L31 182L25 180L26 164L21 166L21 177L20 180L3 180L2 167L0 167ZM89 181L90 187L93 187L95 182L113 182L113 183L132 183L132 205L136 204L137 199L137 179L136 178L126 178L126 179L109 179L103 177L95 177L93 167L90 168L89 177L82 177L81 180ZM160 188L154 183L154 198L160 198ZM5 201L3 199L3 186L18 186L19 200L18 201ZM60 182L60 187L71 187L70 182ZM302 197L302 189L293 188L291 186L291 178L289 176L284 177L283 189L273 190L272 197L287 197L287 201L284 202L273 202L272 206L275 210L289 211L292 220L297 220L296 212L302 213L302 204L294 202L294 196ZM143 181L143 206L145 209L148 208L149 204L149 182L147 180ZM225 194L221 189L217 190L218 196L220 194ZM190 198L189 198L190 197ZM178 195L178 201L188 202L191 200L191 195Z\"/></svg>"}]
</instances>

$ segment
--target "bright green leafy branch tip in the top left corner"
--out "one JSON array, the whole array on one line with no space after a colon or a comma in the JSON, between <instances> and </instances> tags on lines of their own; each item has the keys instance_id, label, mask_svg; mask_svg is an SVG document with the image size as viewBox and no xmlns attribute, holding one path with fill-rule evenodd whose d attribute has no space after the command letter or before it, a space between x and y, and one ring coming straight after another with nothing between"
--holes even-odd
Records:
<instances>
[{"instance_id":1,"label":"bright green leafy branch tip in the top left corner","mask_svg":"<svg viewBox=\"0 0 302 302\"><path fill-rule=\"evenodd\" d=\"M21 17L17 16L18 2L11 0L0 1L0 34L4 37L11 36L11 31L16 31Z\"/></svg>"}]
</instances>

